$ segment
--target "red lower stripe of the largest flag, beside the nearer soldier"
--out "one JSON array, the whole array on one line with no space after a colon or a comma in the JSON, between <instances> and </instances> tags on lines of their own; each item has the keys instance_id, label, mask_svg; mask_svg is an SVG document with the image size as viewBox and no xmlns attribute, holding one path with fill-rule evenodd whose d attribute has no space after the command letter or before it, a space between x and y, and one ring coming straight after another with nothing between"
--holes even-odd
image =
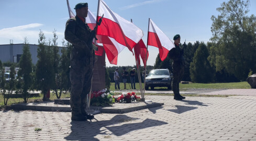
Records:
<instances>
[{"instance_id":1,"label":"red lower stripe of the largest flag, beside the nearer soldier","mask_svg":"<svg viewBox=\"0 0 256 141\"><path fill-rule=\"evenodd\" d=\"M97 16L97 21L99 20L99 18L101 17ZM114 38L118 43L127 46L127 48L131 52L133 46L136 45L136 42L125 36L123 30L118 23L107 18L102 19L101 26L98 26L97 34Z\"/></svg>"}]
</instances>

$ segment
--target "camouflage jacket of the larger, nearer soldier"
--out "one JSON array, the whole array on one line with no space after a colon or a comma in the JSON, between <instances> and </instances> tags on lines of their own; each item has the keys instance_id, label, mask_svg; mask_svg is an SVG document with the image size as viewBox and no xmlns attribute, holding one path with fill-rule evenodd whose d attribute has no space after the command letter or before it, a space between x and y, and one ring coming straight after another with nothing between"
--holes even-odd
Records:
<instances>
[{"instance_id":1,"label":"camouflage jacket of the larger, nearer soldier","mask_svg":"<svg viewBox=\"0 0 256 141\"><path fill-rule=\"evenodd\" d=\"M72 52L76 52L77 57L93 57L92 46L88 45L91 32L88 25L77 16L66 21L65 39L72 43Z\"/></svg>"}]
</instances>

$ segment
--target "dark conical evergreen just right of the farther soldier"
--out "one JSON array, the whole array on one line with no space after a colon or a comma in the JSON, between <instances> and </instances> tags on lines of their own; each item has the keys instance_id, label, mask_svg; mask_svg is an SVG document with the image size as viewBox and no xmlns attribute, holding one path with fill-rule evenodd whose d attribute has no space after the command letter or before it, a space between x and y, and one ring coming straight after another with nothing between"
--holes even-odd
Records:
<instances>
[{"instance_id":1,"label":"dark conical evergreen just right of the farther soldier","mask_svg":"<svg viewBox=\"0 0 256 141\"><path fill-rule=\"evenodd\" d=\"M190 76L193 82L209 83L214 80L215 73L207 60L208 56L208 49L205 43L201 42L196 50L193 62L190 64Z\"/></svg>"}]
</instances>

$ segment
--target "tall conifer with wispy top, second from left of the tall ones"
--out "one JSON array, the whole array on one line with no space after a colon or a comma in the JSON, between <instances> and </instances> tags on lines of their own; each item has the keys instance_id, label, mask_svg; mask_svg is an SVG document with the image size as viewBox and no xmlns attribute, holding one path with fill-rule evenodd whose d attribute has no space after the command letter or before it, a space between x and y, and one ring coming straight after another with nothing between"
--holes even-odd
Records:
<instances>
[{"instance_id":1,"label":"tall conifer with wispy top, second from left of the tall ones","mask_svg":"<svg viewBox=\"0 0 256 141\"><path fill-rule=\"evenodd\" d=\"M47 46L46 37L40 30L37 49L38 61L36 64L36 79L38 89L43 93L43 101L47 100L47 92L54 85L54 69L52 64L52 51Z\"/></svg>"}]
</instances>

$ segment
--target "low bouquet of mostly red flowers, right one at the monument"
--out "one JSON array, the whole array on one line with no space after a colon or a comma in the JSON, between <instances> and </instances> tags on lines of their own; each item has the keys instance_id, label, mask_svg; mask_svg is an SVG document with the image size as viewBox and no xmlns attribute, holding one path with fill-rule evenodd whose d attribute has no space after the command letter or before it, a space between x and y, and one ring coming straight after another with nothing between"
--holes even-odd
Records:
<instances>
[{"instance_id":1,"label":"low bouquet of mostly red flowers, right one at the monument","mask_svg":"<svg viewBox=\"0 0 256 141\"><path fill-rule=\"evenodd\" d=\"M138 97L135 92L131 92L131 93L123 92L121 95L118 96L118 98L116 98L116 101L120 103L122 102L131 103L131 101L139 101L139 100L140 100L140 97Z\"/></svg>"}]
</instances>

